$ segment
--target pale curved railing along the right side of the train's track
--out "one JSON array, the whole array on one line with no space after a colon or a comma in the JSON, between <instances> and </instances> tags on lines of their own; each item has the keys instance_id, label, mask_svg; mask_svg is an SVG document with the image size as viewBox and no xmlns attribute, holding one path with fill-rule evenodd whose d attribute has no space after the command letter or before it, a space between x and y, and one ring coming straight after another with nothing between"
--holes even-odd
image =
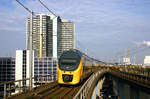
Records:
<instances>
[{"instance_id":1,"label":"pale curved railing along the right side of the train's track","mask_svg":"<svg viewBox=\"0 0 150 99\"><path fill-rule=\"evenodd\" d=\"M91 86L93 85L94 81L106 73L109 69L103 69L102 71L97 71L91 75L91 77L84 83L84 85L80 88L78 93L74 96L73 99L87 99L89 98L89 92L91 90Z\"/></svg>"}]
</instances>

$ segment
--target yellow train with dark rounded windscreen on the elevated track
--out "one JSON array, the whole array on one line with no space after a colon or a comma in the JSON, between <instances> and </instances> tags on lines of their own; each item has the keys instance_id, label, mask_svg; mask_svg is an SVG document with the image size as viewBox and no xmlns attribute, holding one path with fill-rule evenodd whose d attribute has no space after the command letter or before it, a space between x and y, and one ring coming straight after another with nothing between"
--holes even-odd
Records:
<instances>
[{"instance_id":1,"label":"yellow train with dark rounded windscreen on the elevated track","mask_svg":"<svg viewBox=\"0 0 150 99\"><path fill-rule=\"evenodd\" d=\"M77 49L64 51L57 65L58 84L77 85L105 62L87 56Z\"/></svg>"}]
</instances>

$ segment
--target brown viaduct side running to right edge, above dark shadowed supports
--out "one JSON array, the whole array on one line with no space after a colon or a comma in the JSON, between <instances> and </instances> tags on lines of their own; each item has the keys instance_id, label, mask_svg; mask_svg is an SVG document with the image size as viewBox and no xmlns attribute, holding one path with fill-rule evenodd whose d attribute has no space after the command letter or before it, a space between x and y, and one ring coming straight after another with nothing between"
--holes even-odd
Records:
<instances>
[{"instance_id":1,"label":"brown viaduct side running to right edge, above dark shadowed supports","mask_svg":"<svg viewBox=\"0 0 150 99\"><path fill-rule=\"evenodd\" d=\"M110 73L119 76L123 79L127 79L132 81L133 83L145 86L147 88L150 88L150 71L147 71L146 68L144 69L112 69L109 71Z\"/></svg>"}]
</instances>

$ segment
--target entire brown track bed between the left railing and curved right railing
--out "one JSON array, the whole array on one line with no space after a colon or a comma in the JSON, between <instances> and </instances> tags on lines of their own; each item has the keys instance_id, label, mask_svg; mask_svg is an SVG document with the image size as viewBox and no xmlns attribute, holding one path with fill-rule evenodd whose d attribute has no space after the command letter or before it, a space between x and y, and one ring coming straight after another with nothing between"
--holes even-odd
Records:
<instances>
[{"instance_id":1,"label":"entire brown track bed between the left railing and curved right railing","mask_svg":"<svg viewBox=\"0 0 150 99\"><path fill-rule=\"evenodd\" d=\"M78 85L59 85L57 81L51 82L31 91L13 95L8 97L8 99L72 99L87 78Z\"/></svg>"}]
</instances>

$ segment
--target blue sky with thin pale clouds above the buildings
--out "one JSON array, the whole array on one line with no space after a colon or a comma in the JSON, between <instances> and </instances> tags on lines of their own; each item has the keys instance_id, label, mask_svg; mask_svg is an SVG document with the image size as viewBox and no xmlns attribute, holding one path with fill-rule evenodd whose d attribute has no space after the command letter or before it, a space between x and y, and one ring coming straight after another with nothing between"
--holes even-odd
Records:
<instances>
[{"instance_id":1,"label":"blue sky with thin pale clouds above the buildings","mask_svg":"<svg viewBox=\"0 0 150 99\"><path fill-rule=\"evenodd\" d=\"M38 0L19 0L35 13L49 13ZM76 48L103 61L127 55L143 63L150 55L150 0L41 0L75 23ZM29 13L15 0L0 0L0 56L26 48ZM142 45L142 46L140 46ZM132 59L133 60L133 59Z\"/></svg>"}]
</instances>

